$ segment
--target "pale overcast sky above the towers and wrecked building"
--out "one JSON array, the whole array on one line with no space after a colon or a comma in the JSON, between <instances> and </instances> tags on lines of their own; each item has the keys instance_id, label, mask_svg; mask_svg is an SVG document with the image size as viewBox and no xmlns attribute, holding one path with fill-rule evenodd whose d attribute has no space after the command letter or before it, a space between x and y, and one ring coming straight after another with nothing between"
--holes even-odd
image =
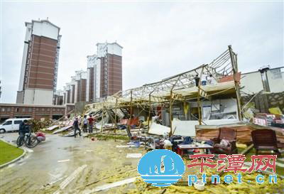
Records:
<instances>
[{"instance_id":1,"label":"pale overcast sky above the towers and wrecked building","mask_svg":"<svg viewBox=\"0 0 284 194\"><path fill-rule=\"evenodd\" d=\"M239 70L283 66L283 2L1 3L1 102L16 102L25 21L60 27L58 89L86 70L96 43L123 48L123 89L210 63L232 45Z\"/></svg>"}]
</instances>

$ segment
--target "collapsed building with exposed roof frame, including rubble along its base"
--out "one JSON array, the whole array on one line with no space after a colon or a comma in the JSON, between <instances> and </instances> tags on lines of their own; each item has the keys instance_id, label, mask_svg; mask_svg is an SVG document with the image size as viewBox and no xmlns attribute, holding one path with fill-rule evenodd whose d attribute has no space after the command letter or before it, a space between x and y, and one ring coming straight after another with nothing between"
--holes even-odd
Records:
<instances>
[{"instance_id":1,"label":"collapsed building with exposed roof frame, including rubble along its base","mask_svg":"<svg viewBox=\"0 0 284 194\"><path fill-rule=\"evenodd\" d=\"M126 129L130 138L131 132L138 131L138 135L190 136L206 141L227 127L236 129L238 141L245 144L251 142L251 131L261 128L273 129L284 141L280 128L261 126L253 122L253 116L247 117L240 84L237 55L229 45L211 63L116 92L102 102L85 105L83 114L92 115L100 131L109 129L116 134L116 129Z\"/></svg>"}]
</instances>

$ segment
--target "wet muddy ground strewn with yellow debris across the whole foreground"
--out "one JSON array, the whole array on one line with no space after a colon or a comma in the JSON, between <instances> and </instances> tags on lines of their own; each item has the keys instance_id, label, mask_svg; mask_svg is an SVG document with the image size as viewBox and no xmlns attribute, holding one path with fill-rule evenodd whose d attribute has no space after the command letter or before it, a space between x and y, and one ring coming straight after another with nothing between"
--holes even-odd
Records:
<instances>
[{"instance_id":1,"label":"wet muddy ground strewn with yellow debris across the whole foreground","mask_svg":"<svg viewBox=\"0 0 284 194\"><path fill-rule=\"evenodd\" d=\"M6 141L16 139L16 134L4 134ZM178 185L167 188L153 187L141 180L137 173L139 158L126 158L128 153L146 153L141 148L116 148L126 145L126 141L107 139L106 141L88 137L62 137L48 135L47 141L39 144L17 163L1 169L0 193L283 193L284 180L278 183L257 184L258 173L244 175L244 183L221 183L205 185L205 190L196 190L187 185L189 174L199 174L197 168L186 168ZM188 164L189 161L185 160ZM207 176L216 174L207 169ZM234 173L231 173L232 176ZM201 176L201 174L200 174ZM225 174L222 175L224 178ZM200 178L200 177L199 177ZM234 178L236 179L236 177ZM129 184L111 184L129 181ZM210 180L209 180L210 182ZM247 183L251 182L251 183ZM107 187L106 185L109 185ZM107 188L102 190L102 188Z\"/></svg>"}]
</instances>

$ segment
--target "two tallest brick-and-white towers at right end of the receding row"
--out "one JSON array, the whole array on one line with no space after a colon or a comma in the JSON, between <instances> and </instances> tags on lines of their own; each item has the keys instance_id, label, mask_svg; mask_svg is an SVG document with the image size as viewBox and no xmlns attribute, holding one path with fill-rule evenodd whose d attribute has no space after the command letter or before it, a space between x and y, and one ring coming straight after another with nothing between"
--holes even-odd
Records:
<instances>
[{"instance_id":1,"label":"two tallest brick-and-white towers at right end of the receding row","mask_svg":"<svg viewBox=\"0 0 284 194\"><path fill-rule=\"evenodd\" d=\"M87 102L122 90L122 47L97 43L97 55L87 56Z\"/></svg>"}]
</instances>

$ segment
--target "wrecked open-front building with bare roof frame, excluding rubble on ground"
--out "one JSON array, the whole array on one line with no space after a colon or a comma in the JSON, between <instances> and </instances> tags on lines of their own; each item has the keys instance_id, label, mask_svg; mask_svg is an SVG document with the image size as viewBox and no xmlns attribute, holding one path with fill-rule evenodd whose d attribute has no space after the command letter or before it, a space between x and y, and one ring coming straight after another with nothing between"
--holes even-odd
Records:
<instances>
[{"instance_id":1,"label":"wrecked open-front building with bare roof frame, excluding rubble on ground","mask_svg":"<svg viewBox=\"0 0 284 194\"><path fill-rule=\"evenodd\" d=\"M236 53L229 45L209 64L87 104L85 114L108 117L113 124L133 115L147 121L151 134L195 136L195 125L241 120L240 75ZM150 124L154 116L163 126Z\"/></svg>"}]
</instances>

